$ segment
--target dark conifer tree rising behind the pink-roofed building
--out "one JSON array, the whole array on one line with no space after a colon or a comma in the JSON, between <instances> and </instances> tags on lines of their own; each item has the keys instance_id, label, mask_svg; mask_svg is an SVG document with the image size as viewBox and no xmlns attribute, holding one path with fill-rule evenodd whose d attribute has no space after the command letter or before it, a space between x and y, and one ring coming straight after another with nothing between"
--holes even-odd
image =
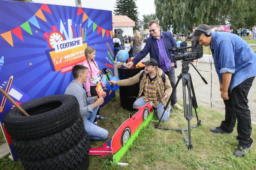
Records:
<instances>
[{"instance_id":1,"label":"dark conifer tree rising behind the pink-roofed building","mask_svg":"<svg viewBox=\"0 0 256 170\"><path fill-rule=\"evenodd\" d=\"M114 9L115 15L126 15L135 23L138 22L138 7L135 3L136 0L116 0L116 9Z\"/></svg>"}]
</instances>

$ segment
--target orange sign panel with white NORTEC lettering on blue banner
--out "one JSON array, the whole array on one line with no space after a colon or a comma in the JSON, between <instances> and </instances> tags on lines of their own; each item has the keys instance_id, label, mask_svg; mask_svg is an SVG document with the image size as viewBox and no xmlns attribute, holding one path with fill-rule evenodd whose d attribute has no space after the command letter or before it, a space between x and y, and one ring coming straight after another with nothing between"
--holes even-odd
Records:
<instances>
[{"instance_id":1,"label":"orange sign panel with white NORTEC lettering on blue banner","mask_svg":"<svg viewBox=\"0 0 256 170\"><path fill-rule=\"evenodd\" d=\"M63 52L56 53L55 51L49 52L55 71L61 71L62 68L72 66L81 61L85 61L85 48L87 43L84 43L81 47L73 48ZM63 71L64 72L64 71Z\"/></svg>"}]
</instances>

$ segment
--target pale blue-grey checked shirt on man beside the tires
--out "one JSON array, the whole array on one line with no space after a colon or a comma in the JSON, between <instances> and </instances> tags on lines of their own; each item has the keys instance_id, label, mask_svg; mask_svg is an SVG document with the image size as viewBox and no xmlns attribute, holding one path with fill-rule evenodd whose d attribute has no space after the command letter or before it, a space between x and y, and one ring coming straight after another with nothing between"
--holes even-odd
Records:
<instances>
[{"instance_id":1,"label":"pale blue-grey checked shirt on man beside the tires","mask_svg":"<svg viewBox=\"0 0 256 170\"><path fill-rule=\"evenodd\" d=\"M65 90L65 94L70 94L77 98L80 106L80 114L85 122L86 115L93 112L92 104L95 102L95 97L86 97L86 92L85 89L83 89L83 85L77 80L72 80Z\"/></svg>"}]
</instances>

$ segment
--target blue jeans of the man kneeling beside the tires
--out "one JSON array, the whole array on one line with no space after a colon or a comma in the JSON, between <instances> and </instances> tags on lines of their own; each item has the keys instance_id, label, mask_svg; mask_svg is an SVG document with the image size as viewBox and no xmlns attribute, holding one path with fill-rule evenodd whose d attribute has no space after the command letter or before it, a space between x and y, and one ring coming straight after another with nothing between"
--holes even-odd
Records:
<instances>
[{"instance_id":1,"label":"blue jeans of the man kneeling beside the tires","mask_svg":"<svg viewBox=\"0 0 256 170\"><path fill-rule=\"evenodd\" d=\"M93 140L103 140L109 136L109 132L102 127L93 124L96 117L99 106L93 109L92 113L86 115L85 130L87 131L89 138Z\"/></svg>"}]
</instances>

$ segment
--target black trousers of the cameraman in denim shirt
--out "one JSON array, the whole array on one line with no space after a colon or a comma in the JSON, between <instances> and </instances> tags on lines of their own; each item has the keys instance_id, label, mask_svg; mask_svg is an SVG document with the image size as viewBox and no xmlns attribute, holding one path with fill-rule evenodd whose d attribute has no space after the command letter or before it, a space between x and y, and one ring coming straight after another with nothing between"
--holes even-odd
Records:
<instances>
[{"instance_id":1,"label":"black trousers of the cameraman in denim shirt","mask_svg":"<svg viewBox=\"0 0 256 170\"><path fill-rule=\"evenodd\" d=\"M251 112L248 104L248 93L254 81L254 77L247 78L241 84L228 90L228 100L225 103L225 120L221 122L220 128L226 132L232 132L237 120L237 140L239 146L249 147L251 139Z\"/></svg>"}]
</instances>

